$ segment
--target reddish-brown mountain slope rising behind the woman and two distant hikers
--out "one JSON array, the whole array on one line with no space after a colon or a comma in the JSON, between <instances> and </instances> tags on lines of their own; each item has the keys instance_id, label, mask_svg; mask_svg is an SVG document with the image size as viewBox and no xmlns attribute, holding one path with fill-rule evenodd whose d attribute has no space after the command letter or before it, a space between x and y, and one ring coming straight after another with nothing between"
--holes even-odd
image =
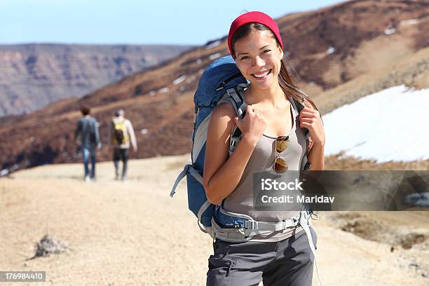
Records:
<instances>
[{"instance_id":1,"label":"reddish-brown mountain slope rising behind the woman and two distant hikers","mask_svg":"<svg viewBox=\"0 0 429 286\"><path fill-rule=\"evenodd\" d=\"M398 83L429 85L429 1L348 1L285 15L278 24L297 81L322 113ZM81 99L5 118L1 168L80 161L72 135L82 104L93 107L104 144L111 115L121 107L137 132L139 151L133 156L188 153L199 76L228 53L222 38ZM109 149L99 158L110 160Z\"/></svg>"}]
</instances>

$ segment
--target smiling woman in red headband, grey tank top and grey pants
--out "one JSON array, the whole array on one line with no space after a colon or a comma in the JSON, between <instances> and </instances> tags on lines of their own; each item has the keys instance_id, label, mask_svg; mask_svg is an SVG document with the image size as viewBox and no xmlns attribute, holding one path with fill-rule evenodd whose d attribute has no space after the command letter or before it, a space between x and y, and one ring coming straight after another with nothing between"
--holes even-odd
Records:
<instances>
[{"instance_id":1,"label":"smiling woman in red headband, grey tank top and grey pants","mask_svg":"<svg viewBox=\"0 0 429 286\"><path fill-rule=\"evenodd\" d=\"M231 24L228 46L236 67L250 82L243 88L247 108L243 118L232 104L213 109L203 186L210 203L220 206L214 218L218 230L228 228L219 215L236 215L257 222L264 231L243 241L233 239L236 229L231 228L228 236L214 231L207 285L258 285L261 280L264 285L311 285L316 234L308 227L308 216L301 219L308 212L257 210L253 174L270 168L276 173L323 170L325 132L320 114L292 83L282 61L279 28L270 16L261 12L240 15ZM229 142L237 128L240 142L231 153ZM305 129L311 136L310 147ZM308 163L302 168L305 156Z\"/></svg>"}]
</instances>

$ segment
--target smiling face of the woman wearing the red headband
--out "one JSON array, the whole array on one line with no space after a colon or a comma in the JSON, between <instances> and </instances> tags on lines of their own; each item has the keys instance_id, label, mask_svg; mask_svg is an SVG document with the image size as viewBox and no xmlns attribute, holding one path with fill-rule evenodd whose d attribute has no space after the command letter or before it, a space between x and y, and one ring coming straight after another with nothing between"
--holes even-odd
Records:
<instances>
[{"instance_id":1,"label":"smiling face of the woman wearing the red headband","mask_svg":"<svg viewBox=\"0 0 429 286\"><path fill-rule=\"evenodd\" d=\"M283 51L270 31L254 30L234 44L236 64L254 88L278 84Z\"/></svg>"}]
</instances>

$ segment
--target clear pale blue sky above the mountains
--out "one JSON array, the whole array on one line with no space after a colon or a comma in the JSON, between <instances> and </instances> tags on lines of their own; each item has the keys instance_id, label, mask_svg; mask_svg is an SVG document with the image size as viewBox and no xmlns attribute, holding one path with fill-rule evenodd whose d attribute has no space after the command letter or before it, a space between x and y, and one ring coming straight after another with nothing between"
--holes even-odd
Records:
<instances>
[{"instance_id":1,"label":"clear pale blue sky above the mountains","mask_svg":"<svg viewBox=\"0 0 429 286\"><path fill-rule=\"evenodd\" d=\"M279 18L341 1L0 0L0 44L201 45L245 11Z\"/></svg>"}]
</instances>

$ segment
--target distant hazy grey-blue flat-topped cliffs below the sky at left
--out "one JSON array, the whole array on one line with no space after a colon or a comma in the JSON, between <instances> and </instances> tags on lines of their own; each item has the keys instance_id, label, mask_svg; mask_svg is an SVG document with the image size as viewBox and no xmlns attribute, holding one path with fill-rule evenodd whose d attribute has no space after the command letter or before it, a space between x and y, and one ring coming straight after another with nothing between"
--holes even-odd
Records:
<instances>
[{"instance_id":1,"label":"distant hazy grey-blue flat-topped cliffs below the sky at left","mask_svg":"<svg viewBox=\"0 0 429 286\"><path fill-rule=\"evenodd\" d=\"M0 46L0 117L82 97L176 57L189 46L27 44Z\"/></svg>"}]
</instances>

